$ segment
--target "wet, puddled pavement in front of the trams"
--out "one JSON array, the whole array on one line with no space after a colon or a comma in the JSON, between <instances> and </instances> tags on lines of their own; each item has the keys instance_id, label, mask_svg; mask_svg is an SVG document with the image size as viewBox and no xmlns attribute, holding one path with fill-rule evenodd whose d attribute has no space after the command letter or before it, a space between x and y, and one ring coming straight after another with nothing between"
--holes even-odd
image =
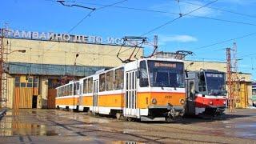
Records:
<instances>
[{"instance_id":1,"label":"wet, puddled pavement in front of the trams","mask_svg":"<svg viewBox=\"0 0 256 144\"><path fill-rule=\"evenodd\" d=\"M256 110L182 122L124 122L62 110L8 110L0 143L256 143Z\"/></svg>"}]
</instances>

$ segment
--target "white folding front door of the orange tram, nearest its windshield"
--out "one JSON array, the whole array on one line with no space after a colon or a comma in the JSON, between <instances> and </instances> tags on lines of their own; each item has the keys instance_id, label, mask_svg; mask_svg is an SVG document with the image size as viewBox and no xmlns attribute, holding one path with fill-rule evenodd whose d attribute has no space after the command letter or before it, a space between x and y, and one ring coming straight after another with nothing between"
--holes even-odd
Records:
<instances>
[{"instance_id":1,"label":"white folding front door of the orange tram, nearest its windshield","mask_svg":"<svg viewBox=\"0 0 256 144\"><path fill-rule=\"evenodd\" d=\"M125 115L136 116L137 108L137 70L126 72Z\"/></svg>"}]
</instances>

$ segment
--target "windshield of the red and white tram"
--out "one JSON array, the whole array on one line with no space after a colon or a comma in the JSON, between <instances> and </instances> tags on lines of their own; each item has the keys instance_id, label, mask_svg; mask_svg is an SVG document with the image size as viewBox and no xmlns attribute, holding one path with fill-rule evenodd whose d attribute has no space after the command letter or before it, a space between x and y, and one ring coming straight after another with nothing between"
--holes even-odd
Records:
<instances>
[{"instance_id":1,"label":"windshield of the red and white tram","mask_svg":"<svg viewBox=\"0 0 256 144\"><path fill-rule=\"evenodd\" d=\"M206 86L210 95L226 95L224 73L205 72Z\"/></svg>"}]
</instances>

